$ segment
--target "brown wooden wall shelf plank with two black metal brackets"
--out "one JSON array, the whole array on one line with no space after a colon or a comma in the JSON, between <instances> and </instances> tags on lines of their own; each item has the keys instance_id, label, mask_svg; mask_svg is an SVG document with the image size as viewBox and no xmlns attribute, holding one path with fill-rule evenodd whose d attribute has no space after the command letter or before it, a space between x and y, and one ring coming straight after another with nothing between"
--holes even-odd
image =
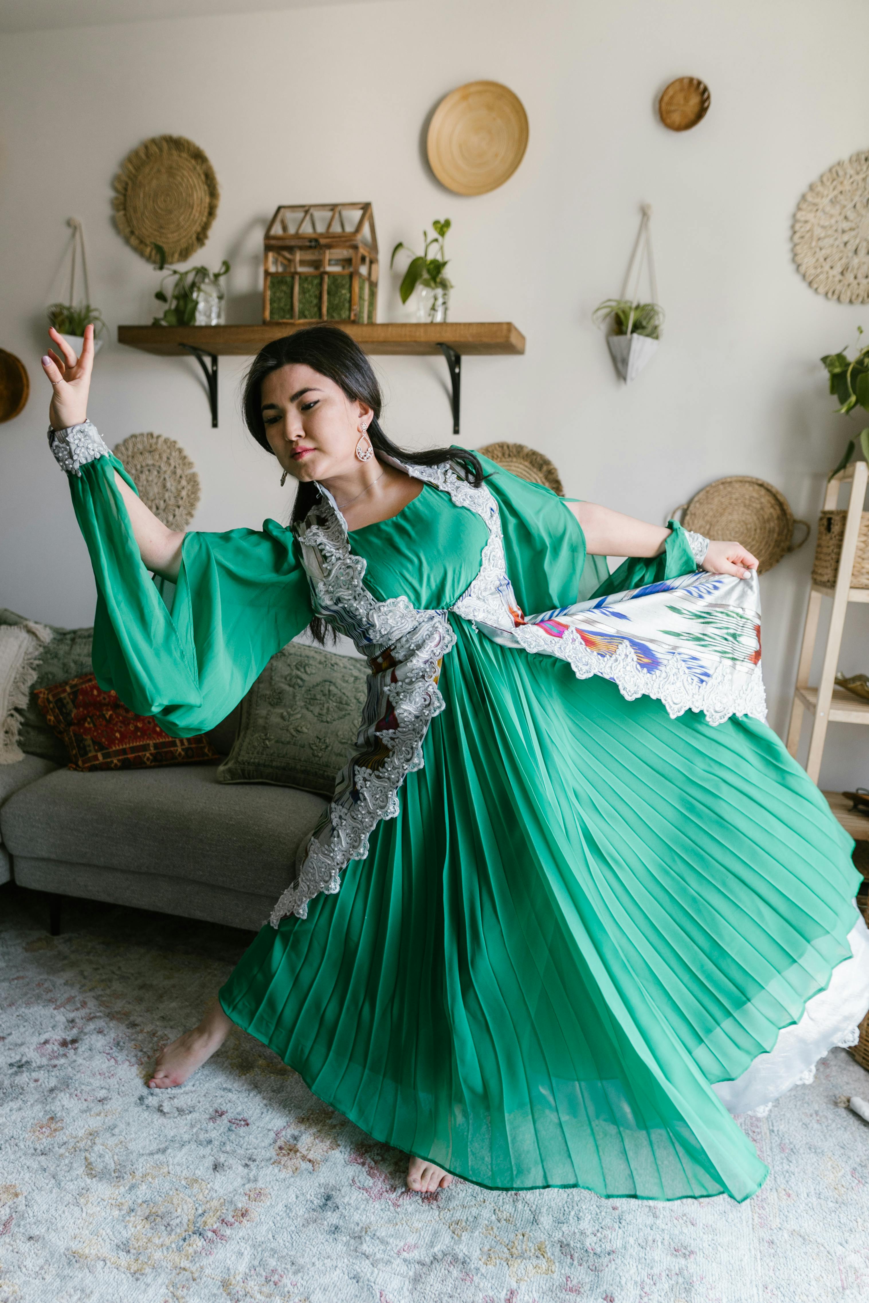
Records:
<instances>
[{"instance_id":1,"label":"brown wooden wall shelf plank with two black metal brackets","mask_svg":"<svg viewBox=\"0 0 869 1303\"><path fill-rule=\"evenodd\" d=\"M159 357L195 357L206 378L211 404L211 425L218 425L218 358L253 357L259 349L314 322L268 326L119 326L117 341ZM461 410L461 358L492 354L520 356L525 336L512 322L387 322L356 326L336 322L366 353L410 354L416 357L442 353L449 369L452 386L452 433L459 434ZM207 361L206 361L207 360Z\"/></svg>"}]
</instances>

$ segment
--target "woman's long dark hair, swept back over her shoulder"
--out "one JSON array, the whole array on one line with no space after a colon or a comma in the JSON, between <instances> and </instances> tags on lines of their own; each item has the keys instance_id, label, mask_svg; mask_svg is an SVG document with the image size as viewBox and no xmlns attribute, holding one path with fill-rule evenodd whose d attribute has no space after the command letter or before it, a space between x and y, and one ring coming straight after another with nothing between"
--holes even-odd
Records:
<instances>
[{"instance_id":1,"label":"woman's long dark hair, swept back over her shoulder","mask_svg":"<svg viewBox=\"0 0 869 1303\"><path fill-rule=\"evenodd\" d=\"M371 364L356 340L336 326L309 326L293 335L284 335L283 339L275 339L271 344L266 344L253 360L245 377L242 399L245 423L266 452L275 455L266 438L266 426L262 418L262 382L272 371L292 364L310 366L311 370L334 380L352 403L358 400L371 408L374 417L366 433L375 456L386 453L412 466L434 466L440 461L449 461L457 474L474 487L479 487L483 482L483 468L479 457L465 448L453 444L448 448L426 448L417 452L399 448L387 438L380 426L383 405L380 386ZM292 526L300 525L305 520L318 498L319 489L315 483L300 481L291 517ZM323 620L313 619L310 629L318 642L324 641L326 624Z\"/></svg>"}]
</instances>

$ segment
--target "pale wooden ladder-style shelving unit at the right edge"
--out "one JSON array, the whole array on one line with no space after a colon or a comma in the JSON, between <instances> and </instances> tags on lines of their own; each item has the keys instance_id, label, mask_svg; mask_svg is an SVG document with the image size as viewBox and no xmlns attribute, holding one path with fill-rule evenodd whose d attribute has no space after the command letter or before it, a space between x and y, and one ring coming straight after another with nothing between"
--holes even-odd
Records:
<instances>
[{"instance_id":1,"label":"pale wooden ladder-style shelving unit at the right edge","mask_svg":"<svg viewBox=\"0 0 869 1303\"><path fill-rule=\"evenodd\" d=\"M839 489L851 483L851 500L846 517L844 538L842 541L842 555L836 573L835 588L813 584L809 592L809 607L805 615L805 628L803 631L803 646L800 649L800 663L796 671L796 687L793 689L793 704L791 706L791 722L787 734L787 749L796 756L800 745L800 732L803 719L808 710L812 718L812 736L809 739L809 754L806 758L806 773L817 783L821 773L821 758L827 736L827 724L869 724L869 701L861 701L844 688L836 688L835 676L839 665L839 650L842 648L842 635L844 631L848 606L855 602L869 602L869 589L852 588L851 576L853 560L857 550L857 534L860 519L869 481L869 466L865 461L855 461L838 476L834 476L823 499L823 509L831 511L839 500ZM818 636L818 623L821 619L821 602L823 598L833 599L830 612L830 628L827 642L823 650L823 665L821 667L821 681L817 688L809 687L809 674L814 658L814 645ZM842 826L855 839L869 838L869 818L852 812L848 803L839 792L823 794L830 803L830 808Z\"/></svg>"}]
</instances>

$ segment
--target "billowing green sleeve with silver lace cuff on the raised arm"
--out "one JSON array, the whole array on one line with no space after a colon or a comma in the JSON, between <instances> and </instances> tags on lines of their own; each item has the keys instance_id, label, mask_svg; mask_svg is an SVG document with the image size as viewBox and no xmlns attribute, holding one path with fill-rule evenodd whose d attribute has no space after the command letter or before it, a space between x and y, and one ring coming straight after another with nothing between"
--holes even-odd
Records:
<instances>
[{"instance_id":1,"label":"billowing green sleeve with silver lace cuff on the raised arm","mask_svg":"<svg viewBox=\"0 0 869 1303\"><path fill-rule=\"evenodd\" d=\"M77 434L78 431L78 434ZM96 580L93 666L100 688L176 737L218 724L313 616L289 529L189 532L171 606L139 555L113 472L135 485L86 422L50 431Z\"/></svg>"}]
</instances>

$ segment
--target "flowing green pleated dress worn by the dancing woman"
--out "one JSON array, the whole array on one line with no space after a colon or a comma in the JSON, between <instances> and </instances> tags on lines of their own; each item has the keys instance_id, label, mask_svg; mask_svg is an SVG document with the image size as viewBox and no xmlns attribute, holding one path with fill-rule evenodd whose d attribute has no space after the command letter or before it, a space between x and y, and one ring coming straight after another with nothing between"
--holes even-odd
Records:
<instances>
[{"instance_id":1,"label":"flowing green pleated dress worn by the dancing woman","mask_svg":"<svg viewBox=\"0 0 869 1303\"><path fill-rule=\"evenodd\" d=\"M310 620L298 547L275 521L189 533L169 612L112 466L70 476L99 589L94 668L197 732ZM696 569L674 525L661 556L607 579L559 498L486 469L525 611ZM378 599L447 610L486 526L425 485L349 538ZM771 1061L779 1029L853 968L852 839L760 721L671 719L448 619L444 709L397 814L307 917L262 928L225 1012L371 1136L478 1184L749 1197L767 1169L714 1085Z\"/></svg>"}]
</instances>

